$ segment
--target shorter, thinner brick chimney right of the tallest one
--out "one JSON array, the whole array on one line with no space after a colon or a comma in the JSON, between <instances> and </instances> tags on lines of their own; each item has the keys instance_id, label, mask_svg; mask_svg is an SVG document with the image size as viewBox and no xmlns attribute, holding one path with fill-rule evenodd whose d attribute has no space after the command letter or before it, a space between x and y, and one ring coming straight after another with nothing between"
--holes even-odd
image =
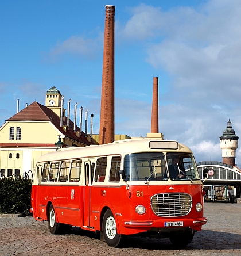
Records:
<instances>
[{"instance_id":1,"label":"shorter, thinner brick chimney right of the tallest one","mask_svg":"<svg viewBox=\"0 0 241 256\"><path fill-rule=\"evenodd\" d=\"M158 126L158 77L153 78L151 133L159 133L159 126Z\"/></svg>"}]
</instances>

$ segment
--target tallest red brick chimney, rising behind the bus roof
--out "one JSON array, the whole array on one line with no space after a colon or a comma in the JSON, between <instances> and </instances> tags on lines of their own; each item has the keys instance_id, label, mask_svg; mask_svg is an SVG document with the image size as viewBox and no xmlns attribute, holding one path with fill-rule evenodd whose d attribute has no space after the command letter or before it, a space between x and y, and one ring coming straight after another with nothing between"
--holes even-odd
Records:
<instances>
[{"instance_id":1,"label":"tallest red brick chimney, rising behind the bus roof","mask_svg":"<svg viewBox=\"0 0 241 256\"><path fill-rule=\"evenodd\" d=\"M104 56L102 73L102 95L100 106L99 144L114 142L114 31L115 6L106 5L104 24Z\"/></svg>"}]
</instances>

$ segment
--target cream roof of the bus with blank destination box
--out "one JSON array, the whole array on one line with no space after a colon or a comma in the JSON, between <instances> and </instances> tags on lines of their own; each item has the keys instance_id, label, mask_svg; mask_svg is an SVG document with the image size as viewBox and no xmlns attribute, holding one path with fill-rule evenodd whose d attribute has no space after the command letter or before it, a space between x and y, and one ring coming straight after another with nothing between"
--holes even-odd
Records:
<instances>
[{"instance_id":1,"label":"cream roof of the bus with blank destination box","mask_svg":"<svg viewBox=\"0 0 241 256\"><path fill-rule=\"evenodd\" d=\"M104 155L126 155L133 152L192 152L189 147L175 140L156 138L135 138L117 140L104 145L90 145L87 147L63 148L40 156L39 162L60 161L64 159L91 158Z\"/></svg>"}]
</instances>

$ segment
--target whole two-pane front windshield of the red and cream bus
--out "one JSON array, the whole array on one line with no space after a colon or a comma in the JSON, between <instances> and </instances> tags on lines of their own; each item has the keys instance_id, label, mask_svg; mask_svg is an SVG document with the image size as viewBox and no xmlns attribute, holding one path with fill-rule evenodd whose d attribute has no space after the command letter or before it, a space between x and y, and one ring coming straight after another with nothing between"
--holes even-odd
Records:
<instances>
[{"instance_id":1,"label":"whole two-pane front windshield of the red and cream bus","mask_svg":"<svg viewBox=\"0 0 241 256\"><path fill-rule=\"evenodd\" d=\"M168 168L167 168L168 167ZM192 154L162 152L132 153L124 159L125 181L197 180Z\"/></svg>"}]
</instances>

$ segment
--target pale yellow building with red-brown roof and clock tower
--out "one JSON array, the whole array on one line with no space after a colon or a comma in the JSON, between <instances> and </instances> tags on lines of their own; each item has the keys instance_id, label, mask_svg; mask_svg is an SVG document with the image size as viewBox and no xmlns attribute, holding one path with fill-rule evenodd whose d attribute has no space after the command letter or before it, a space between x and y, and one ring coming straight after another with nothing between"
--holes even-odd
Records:
<instances>
[{"instance_id":1,"label":"pale yellow building with red-brown roof and clock tower","mask_svg":"<svg viewBox=\"0 0 241 256\"><path fill-rule=\"evenodd\" d=\"M46 92L45 106L34 101L0 127L2 177L33 172L41 155L56 150L59 138L64 147L93 144L90 136L81 132L77 125L73 127L73 121L65 117L61 98L60 91L52 87Z\"/></svg>"}]
</instances>

